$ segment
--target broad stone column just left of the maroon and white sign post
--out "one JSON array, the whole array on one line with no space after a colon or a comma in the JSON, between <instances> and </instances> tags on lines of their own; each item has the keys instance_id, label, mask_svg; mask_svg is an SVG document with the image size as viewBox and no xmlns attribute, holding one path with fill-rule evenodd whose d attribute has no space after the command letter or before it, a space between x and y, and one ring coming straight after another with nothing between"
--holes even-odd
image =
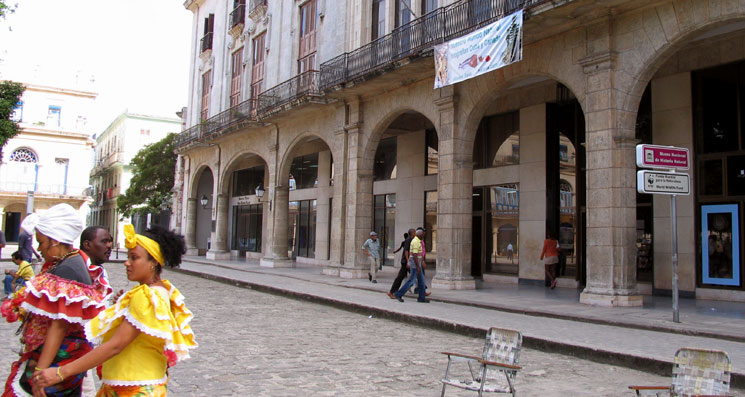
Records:
<instances>
[{"instance_id":1,"label":"broad stone column just left of the maroon and white sign post","mask_svg":"<svg viewBox=\"0 0 745 397\"><path fill-rule=\"evenodd\" d=\"M619 91L625 87L613 87L613 61L610 51L580 60L588 82L587 286L580 302L641 306L636 289L636 111L619 104L626 94Z\"/></svg>"}]
</instances>

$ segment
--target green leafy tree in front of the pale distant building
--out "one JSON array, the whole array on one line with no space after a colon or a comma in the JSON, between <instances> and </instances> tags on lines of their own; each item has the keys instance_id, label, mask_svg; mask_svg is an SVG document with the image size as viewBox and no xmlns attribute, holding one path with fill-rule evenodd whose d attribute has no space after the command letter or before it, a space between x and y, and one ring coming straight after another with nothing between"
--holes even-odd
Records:
<instances>
[{"instance_id":1,"label":"green leafy tree in front of the pale distant building","mask_svg":"<svg viewBox=\"0 0 745 397\"><path fill-rule=\"evenodd\" d=\"M129 165L132 180L127 191L116 200L119 213L132 216L135 213L159 212L168 203L173 188L176 154L173 152L173 137L168 134L158 142L142 148Z\"/></svg>"}]
</instances>

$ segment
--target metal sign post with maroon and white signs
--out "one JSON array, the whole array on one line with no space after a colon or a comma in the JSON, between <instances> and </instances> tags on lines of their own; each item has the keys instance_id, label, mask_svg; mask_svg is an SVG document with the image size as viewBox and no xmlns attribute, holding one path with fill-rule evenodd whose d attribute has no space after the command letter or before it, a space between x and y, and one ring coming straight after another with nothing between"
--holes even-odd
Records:
<instances>
[{"instance_id":1,"label":"metal sign post with maroon and white signs","mask_svg":"<svg viewBox=\"0 0 745 397\"><path fill-rule=\"evenodd\" d=\"M639 193L666 194L670 196L670 227L672 228L672 294L673 322L680 322L678 312L678 213L675 196L691 194L690 178L687 174L676 174L675 170L689 168L688 149L672 146L636 145L636 165L640 168L664 169L668 172L641 170L636 173L636 190Z\"/></svg>"}]
</instances>

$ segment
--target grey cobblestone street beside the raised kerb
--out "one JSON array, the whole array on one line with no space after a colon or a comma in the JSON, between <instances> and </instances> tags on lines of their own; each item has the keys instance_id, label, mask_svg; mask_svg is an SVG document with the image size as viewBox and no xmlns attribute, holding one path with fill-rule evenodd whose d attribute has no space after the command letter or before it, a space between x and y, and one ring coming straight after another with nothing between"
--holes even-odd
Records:
<instances>
[{"instance_id":1,"label":"grey cobblestone street beside the raised kerb","mask_svg":"<svg viewBox=\"0 0 745 397\"><path fill-rule=\"evenodd\" d=\"M112 285L130 288L123 267L107 265ZM479 354L483 339L167 272L195 313L200 347L171 370L173 396L436 396L446 365L440 351ZM540 319L536 319L540 321ZM2 323L15 358L17 324ZM523 349L517 388L523 396L632 395L630 384L669 384L668 377ZM7 372L5 372L7 374ZM473 396L448 389L448 396Z\"/></svg>"}]
</instances>

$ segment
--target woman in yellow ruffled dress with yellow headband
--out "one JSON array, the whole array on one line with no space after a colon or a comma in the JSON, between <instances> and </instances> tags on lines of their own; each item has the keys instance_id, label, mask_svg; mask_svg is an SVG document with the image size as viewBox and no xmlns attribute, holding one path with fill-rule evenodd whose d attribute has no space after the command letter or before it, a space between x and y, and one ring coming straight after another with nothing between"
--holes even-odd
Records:
<instances>
[{"instance_id":1,"label":"woman in yellow ruffled dress with yellow headband","mask_svg":"<svg viewBox=\"0 0 745 397\"><path fill-rule=\"evenodd\" d=\"M124 234L127 278L139 285L86 324L86 337L100 345L73 362L34 373L40 385L103 364L97 397L165 396L167 369L197 346L183 295L160 278L163 266L181 263L183 237L159 227L135 234L132 225L125 225Z\"/></svg>"}]
</instances>

